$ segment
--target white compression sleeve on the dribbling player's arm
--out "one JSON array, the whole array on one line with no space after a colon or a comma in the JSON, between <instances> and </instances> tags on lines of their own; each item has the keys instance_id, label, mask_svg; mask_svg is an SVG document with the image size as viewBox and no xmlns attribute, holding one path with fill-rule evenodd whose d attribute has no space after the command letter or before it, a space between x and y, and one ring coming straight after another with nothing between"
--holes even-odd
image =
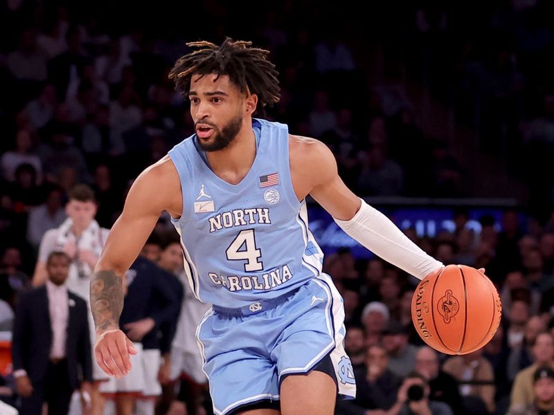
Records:
<instances>
[{"instance_id":1,"label":"white compression sleeve on the dribbling player's arm","mask_svg":"<svg viewBox=\"0 0 554 415\"><path fill-rule=\"evenodd\" d=\"M361 200L361 199L360 199ZM413 243L384 214L361 200L349 221L334 219L350 237L382 259L419 279L443 266Z\"/></svg>"}]
</instances>

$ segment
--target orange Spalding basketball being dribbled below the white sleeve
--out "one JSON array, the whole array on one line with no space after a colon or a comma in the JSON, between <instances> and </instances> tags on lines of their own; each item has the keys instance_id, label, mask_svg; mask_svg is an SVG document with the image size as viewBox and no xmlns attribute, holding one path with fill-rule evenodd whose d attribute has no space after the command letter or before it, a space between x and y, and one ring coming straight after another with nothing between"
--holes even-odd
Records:
<instances>
[{"instance_id":1,"label":"orange Spalding basketball being dribbled below the white sleeve","mask_svg":"<svg viewBox=\"0 0 554 415\"><path fill-rule=\"evenodd\" d=\"M494 284L475 268L449 265L422 279L411 300L415 330L433 349L467 354L485 346L502 315Z\"/></svg>"}]
</instances>

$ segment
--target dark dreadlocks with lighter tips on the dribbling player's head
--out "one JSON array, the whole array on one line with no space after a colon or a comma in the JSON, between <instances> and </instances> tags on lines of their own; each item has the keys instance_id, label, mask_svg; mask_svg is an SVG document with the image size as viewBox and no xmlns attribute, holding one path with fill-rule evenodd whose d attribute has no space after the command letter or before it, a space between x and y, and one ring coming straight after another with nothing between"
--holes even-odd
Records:
<instances>
[{"instance_id":1,"label":"dark dreadlocks with lighter tips on the dribbling player's head","mask_svg":"<svg viewBox=\"0 0 554 415\"><path fill-rule=\"evenodd\" d=\"M186 44L190 48L201 48L181 56L169 73L175 82L175 89L185 97L190 91L190 78L194 75L215 73L229 75L240 91L258 95L258 104L271 107L280 99L278 72L269 62L268 50L252 48L252 42L233 41L226 37L221 46L200 41Z\"/></svg>"}]
</instances>

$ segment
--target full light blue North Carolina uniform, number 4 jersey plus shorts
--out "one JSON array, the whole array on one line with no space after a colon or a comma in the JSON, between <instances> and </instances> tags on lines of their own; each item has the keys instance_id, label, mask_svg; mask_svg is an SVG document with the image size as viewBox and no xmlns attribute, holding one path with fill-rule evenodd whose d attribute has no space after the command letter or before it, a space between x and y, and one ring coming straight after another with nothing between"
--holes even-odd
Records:
<instances>
[{"instance_id":1,"label":"full light blue North Carolina uniform, number 4 jersey plus shorts","mask_svg":"<svg viewBox=\"0 0 554 415\"><path fill-rule=\"evenodd\" d=\"M343 347L342 298L321 273L323 253L292 187L287 126L253 120L258 149L238 185L217 177L195 135L169 155L183 192L188 282L213 304L197 327L216 415L278 407L280 382L312 370L355 396Z\"/></svg>"}]
</instances>

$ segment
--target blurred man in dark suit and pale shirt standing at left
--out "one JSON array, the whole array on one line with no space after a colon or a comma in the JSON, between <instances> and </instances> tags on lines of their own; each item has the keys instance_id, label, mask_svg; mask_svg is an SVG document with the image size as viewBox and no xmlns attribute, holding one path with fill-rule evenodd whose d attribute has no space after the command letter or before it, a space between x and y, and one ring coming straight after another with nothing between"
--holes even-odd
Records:
<instances>
[{"instance_id":1,"label":"blurred man in dark suit and pale shirt standing at left","mask_svg":"<svg viewBox=\"0 0 554 415\"><path fill-rule=\"evenodd\" d=\"M46 261L48 280L21 293L15 309L12 362L21 413L66 414L73 391L91 391L92 360L87 304L68 291L71 259L52 252Z\"/></svg>"}]
</instances>

